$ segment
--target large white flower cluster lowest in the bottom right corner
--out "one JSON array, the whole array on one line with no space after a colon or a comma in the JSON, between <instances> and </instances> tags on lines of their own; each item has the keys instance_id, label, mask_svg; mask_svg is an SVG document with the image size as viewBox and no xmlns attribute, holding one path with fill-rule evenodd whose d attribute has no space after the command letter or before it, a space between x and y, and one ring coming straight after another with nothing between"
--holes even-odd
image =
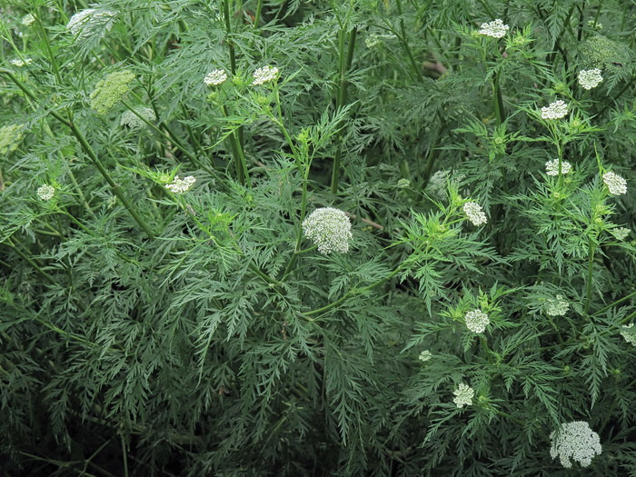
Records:
<instances>
[{"instance_id":1,"label":"large white flower cluster lowest in the bottom right corner","mask_svg":"<svg viewBox=\"0 0 636 477\"><path fill-rule=\"evenodd\" d=\"M571 468L571 461L579 462L581 467L588 467L592 457L601 455L599 434L593 432L590 424L584 421L561 424L559 432L550 434L550 440L552 459L558 455L561 465L567 469Z\"/></svg>"}]
</instances>

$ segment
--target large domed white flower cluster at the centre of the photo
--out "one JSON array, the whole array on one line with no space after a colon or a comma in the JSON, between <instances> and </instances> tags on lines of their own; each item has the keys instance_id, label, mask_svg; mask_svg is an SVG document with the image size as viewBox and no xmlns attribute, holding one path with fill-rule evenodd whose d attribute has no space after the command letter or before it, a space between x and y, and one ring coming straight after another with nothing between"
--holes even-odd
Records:
<instances>
[{"instance_id":1,"label":"large domed white flower cluster at the centre of the photo","mask_svg":"<svg viewBox=\"0 0 636 477\"><path fill-rule=\"evenodd\" d=\"M333 207L321 207L303 220L303 232L306 237L318 245L318 252L349 252L351 221L343 211Z\"/></svg>"}]
</instances>

